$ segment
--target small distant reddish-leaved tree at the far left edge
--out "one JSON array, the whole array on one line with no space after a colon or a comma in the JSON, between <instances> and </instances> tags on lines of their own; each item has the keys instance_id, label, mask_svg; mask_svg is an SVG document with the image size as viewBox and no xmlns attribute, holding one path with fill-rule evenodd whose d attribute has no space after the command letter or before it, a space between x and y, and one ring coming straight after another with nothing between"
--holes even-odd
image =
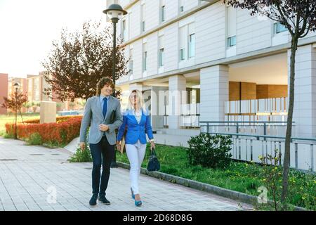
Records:
<instances>
[{"instance_id":1,"label":"small distant reddish-leaved tree at the far left edge","mask_svg":"<svg viewBox=\"0 0 316 225\"><path fill-rule=\"evenodd\" d=\"M13 110L13 112L19 112L23 122L21 108L25 104L27 104L27 94L22 94L22 92L13 92L10 98L4 97L2 107L9 108Z\"/></svg>"}]
</instances>

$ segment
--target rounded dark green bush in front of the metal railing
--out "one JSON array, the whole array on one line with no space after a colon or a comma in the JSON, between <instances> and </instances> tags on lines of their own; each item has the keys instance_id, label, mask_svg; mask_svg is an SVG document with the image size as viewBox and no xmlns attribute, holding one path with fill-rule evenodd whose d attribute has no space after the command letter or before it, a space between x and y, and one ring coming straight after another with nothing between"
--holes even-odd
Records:
<instances>
[{"instance_id":1,"label":"rounded dark green bush in front of the metal railing","mask_svg":"<svg viewBox=\"0 0 316 225\"><path fill-rule=\"evenodd\" d=\"M228 136L199 134L187 141L190 148L187 157L191 165L225 168L230 165L232 141Z\"/></svg>"}]
</instances>

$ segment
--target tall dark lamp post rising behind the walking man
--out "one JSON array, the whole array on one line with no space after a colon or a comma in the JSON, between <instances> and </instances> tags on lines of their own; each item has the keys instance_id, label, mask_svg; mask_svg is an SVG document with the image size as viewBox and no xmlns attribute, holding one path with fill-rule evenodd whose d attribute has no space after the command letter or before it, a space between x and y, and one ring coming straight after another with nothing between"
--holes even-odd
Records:
<instances>
[{"instance_id":1,"label":"tall dark lamp post rising behind the walking man","mask_svg":"<svg viewBox=\"0 0 316 225\"><path fill-rule=\"evenodd\" d=\"M112 50L112 81L113 81L113 93L112 96L115 97L115 64L116 64L116 48L117 48L117 23L119 22L119 19L123 15L126 15L127 12L121 8L119 4L112 4L107 9L103 11L107 15L108 18L110 18L111 22L113 23L113 50ZM117 158L116 154L114 154L114 159L111 163L112 168L117 167Z\"/></svg>"}]
</instances>

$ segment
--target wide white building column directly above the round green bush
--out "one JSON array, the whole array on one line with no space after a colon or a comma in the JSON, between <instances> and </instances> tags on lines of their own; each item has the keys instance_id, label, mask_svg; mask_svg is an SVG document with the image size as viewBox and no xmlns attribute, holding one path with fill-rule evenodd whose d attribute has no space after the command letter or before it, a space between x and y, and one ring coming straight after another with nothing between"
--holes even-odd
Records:
<instances>
[{"instance_id":1,"label":"wide white building column directly above the round green bush","mask_svg":"<svg viewBox=\"0 0 316 225\"><path fill-rule=\"evenodd\" d=\"M229 97L227 65L214 65L200 71L200 121L224 121Z\"/></svg>"}]
</instances>

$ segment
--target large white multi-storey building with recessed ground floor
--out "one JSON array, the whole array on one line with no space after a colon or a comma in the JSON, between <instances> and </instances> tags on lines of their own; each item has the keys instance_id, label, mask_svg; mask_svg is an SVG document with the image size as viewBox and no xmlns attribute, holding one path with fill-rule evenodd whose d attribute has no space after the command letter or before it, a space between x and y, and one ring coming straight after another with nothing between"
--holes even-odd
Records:
<instances>
[{"instance_id":1,"label":"large white multi-storey building with recessed ground floor","mask_svg":"<svg viewBox=\"0 0 316 225\"><path fill-rule=\"evenodd\" d=\"M290 35L282 25L223 1L108 0L107 6L113 3L128 11L118 34L131 58L131 73L117 86L158 96L151 98L154 129L193 134L199 121L287 121ZM295 85L293 135L315 139L315 32L299 41ZM166 101L159 90L169 90ZM166 113L158 113L165 105ZM284 124L266 124L265 131L244 125L211 129L285 135Z\"/></svg>"}]
</instances>

